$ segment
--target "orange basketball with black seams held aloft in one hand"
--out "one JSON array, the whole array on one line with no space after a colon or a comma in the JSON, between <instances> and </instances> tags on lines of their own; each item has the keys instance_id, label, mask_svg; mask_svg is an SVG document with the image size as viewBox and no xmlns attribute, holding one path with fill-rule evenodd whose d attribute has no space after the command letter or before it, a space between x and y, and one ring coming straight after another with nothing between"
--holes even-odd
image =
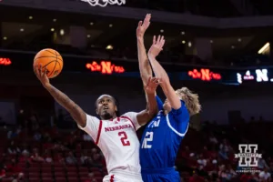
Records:
<instances>
[{"instance_id":1,"label":"orange basketball with black seams held aloft in one hand","mask_svg":"<svg viewBox=\"0 0 273 182\"><path fill-rule=\"evenodd\" d=\"M41 65L43 70L46 67L46 76L54 78L61 73L64 64L62 56L56 50L46 48L35 55L34 66L37 65Z\"/></svg>"}]
</instances>

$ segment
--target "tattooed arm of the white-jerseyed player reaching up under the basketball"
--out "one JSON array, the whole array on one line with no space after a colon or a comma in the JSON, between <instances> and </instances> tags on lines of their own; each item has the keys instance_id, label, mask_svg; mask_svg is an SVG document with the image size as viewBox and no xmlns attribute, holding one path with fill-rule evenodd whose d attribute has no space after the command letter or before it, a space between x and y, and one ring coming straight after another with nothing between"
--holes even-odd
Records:
<instances>
[{"instance_id":1,"label":"tattooed arm of the white-jerseyed player reaching up under the basketball","mask_svg":"<svg viewBox=\"0 0 273 182\"><path fill-rule=\"evenodd\" d=\"M42 70L42 66L34 66L35 75L40 80L45 89L53 96L61 106L64 106L66 110L70 113L70 115L74 118L76 123L79 126L86 126L86 113L82 108L76 105L68 96L62 93L60 90L56 89L56 87L52 86L49 82L48 77L45 74L45 70Z\"/></svg>"}]
</instances>

